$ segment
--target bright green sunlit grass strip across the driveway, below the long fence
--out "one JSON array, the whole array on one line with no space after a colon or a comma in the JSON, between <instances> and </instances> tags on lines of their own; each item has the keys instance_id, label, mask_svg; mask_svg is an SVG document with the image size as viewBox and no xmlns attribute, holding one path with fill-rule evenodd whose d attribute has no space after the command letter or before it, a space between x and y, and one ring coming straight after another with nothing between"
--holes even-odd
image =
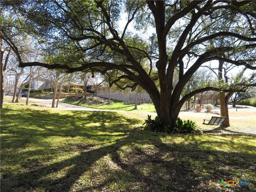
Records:
<instances>
[{"instance_id":1,"label":"bright green sunlit grass strip across the driveway, below the long fence","mask_svg":"<svg viewBox=\"0 0 256 192\"><path fill-rule=\"evenodd\" d=\"M83 107L91 107L96 109L107 109L107 110L123 110L123 111L131 111L134 109L133 105L125 105L123 101L114 101L111 100L111 104L97 104L97 105L89 105L87 103L84 103L83 100L73 100L73 99L64 99L61 102L83 106ZM141 105L138 105L138 110L136 111L148 111L148 112L156 112L155 106L153 103L143 103Z\"/></svg>"}]
</instances>

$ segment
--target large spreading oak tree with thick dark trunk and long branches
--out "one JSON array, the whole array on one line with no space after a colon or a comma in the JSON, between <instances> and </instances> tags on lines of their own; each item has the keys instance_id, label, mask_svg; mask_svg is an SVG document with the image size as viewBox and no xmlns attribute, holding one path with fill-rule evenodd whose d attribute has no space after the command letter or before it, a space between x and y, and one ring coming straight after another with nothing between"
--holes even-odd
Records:
<instances>
[{"instance_id":1,"label":"large spreading oak tree with thick dark trunk and long branches","mask_svg":"<svg viewBox=\"0 0 256 192\"><path fill-rule=\"evenodd\" d=\"M26 25L20 27L43 44L45 53L64 55L66 59L59 63L23 62L3 27L1 35L17 54L20 67L62 68L69 73L86 69L120 71L117 79L128 79L134 82L132 87L140 85L145 89L157 115L173 126L183 103L193 95L209 90L230 92L229 87L209 84L181 97L183 87L201 65L219 60L256 69L255 4L187 0L4 1L6 10L15 10L25 20ZM126 23L121 27L123 15ZM221 25L226 20L230 20L228 28ZM137 32L132 32L131 25ZM152 34L150 27L154 29ZM230 46L211 46L220 37L228 38ZM237 44L237 39L243 43ZM236 51L241 56L239 60L223 57L230 51ZM239 84L237 89L241 86L245 85Z\"/></svg>"}]
</instances>

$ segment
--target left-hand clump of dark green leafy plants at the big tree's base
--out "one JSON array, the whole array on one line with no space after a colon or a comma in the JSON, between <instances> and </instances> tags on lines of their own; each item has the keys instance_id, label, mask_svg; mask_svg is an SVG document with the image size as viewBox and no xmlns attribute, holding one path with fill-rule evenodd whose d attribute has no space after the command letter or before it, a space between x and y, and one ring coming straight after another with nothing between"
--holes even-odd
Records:
<instances>
[{"instance_id":1,"label":"left-hand clump of dark green leafy plants at the big tree's base","mask_svg":"<svg viewBox=\"0 0 256 192\"><path fill-rule=\"evenodd\" d=\"M155 117L155 119L151 119L151 115L148 115L148 118L145 120L146 131L153 131L153 132L170 132L170 126L167 125L163 120L159 117Z\"/></svg>"}]
</instances>

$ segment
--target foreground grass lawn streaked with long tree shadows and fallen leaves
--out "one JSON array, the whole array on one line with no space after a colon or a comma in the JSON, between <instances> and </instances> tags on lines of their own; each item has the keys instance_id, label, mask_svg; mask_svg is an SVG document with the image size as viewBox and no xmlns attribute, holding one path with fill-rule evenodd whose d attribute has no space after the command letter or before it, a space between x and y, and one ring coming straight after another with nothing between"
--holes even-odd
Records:
<instances>
[{"instance_id":1,"label":"foreground grass lawn streaked with long tree shadows and fallen leaves","mask_svg":"<svg viewBox=\"0 0 256 192\"><path fill-rule=\"evenodd\" d=\"M157 134L129 113L5 105L1 191L255 191L256 135ZM250 186L220 186L221 180Z\"/></svg>"}]
</instances>

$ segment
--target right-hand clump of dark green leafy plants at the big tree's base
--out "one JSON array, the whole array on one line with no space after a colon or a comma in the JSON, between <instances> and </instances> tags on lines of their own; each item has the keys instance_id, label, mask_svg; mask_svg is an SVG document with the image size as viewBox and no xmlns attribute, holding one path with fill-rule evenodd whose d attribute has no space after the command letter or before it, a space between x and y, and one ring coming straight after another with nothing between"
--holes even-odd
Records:
<instances>
[{"instance_id":1,"label":"right-hand clump of dark green leafy plants at the big tree's base","mask_svg":"<svg viewBox=\"0 0 256 192\"><path fill-rule=\"evenodd\" d=\"M175 128L174 128L173 132L194 133L196 131L196 122L189 120L189 119L182 121L182 119L180 119L178 117L178 119L175 122L174 127Z\"/></svg>"}]
</instances>

